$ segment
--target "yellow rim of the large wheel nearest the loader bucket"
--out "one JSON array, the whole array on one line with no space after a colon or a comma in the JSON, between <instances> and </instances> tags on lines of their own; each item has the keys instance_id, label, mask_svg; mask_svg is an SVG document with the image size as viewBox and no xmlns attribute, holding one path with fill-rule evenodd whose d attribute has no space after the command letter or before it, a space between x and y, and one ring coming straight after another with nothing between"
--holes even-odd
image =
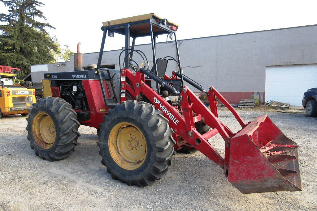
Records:
<instances>
[{"instance_id":1,"label":"yellow rim of the large wheel nearest the loader bucket","mask_svg":"<svg viewBox=\"0 0 317 211\"><path fill-rule=\"evenodd\" d=\"M146 140L138 127L121 122L110 131L108 146L111 157L127 170L139 168L146 159Z\"/></svg>"}]
</instances>

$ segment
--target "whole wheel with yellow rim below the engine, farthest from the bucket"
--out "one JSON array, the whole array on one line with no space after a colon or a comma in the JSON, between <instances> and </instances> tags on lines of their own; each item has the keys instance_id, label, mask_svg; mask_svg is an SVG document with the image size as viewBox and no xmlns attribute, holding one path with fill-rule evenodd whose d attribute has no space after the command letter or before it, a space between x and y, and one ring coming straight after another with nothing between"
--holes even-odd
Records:
<instances>
[{"instance_id":1,"label":"whole wheel with yellow rim below the engine, farthest from the bucket","mask_svg":"<svg viewBox=\"0 0 317 211\"><path fill-rule=\"evenodd\" d=\"M68 157L80 136L76 118L72 106L61 98L46 97L34 103L25 129L35 154L48 161Z\"/></svg>"}]
</instances>

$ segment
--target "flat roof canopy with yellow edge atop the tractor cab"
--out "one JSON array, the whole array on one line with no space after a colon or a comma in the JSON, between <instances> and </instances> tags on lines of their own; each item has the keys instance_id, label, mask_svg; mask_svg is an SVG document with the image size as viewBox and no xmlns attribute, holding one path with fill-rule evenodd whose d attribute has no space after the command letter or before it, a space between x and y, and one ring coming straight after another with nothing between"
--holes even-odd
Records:
<instances>
[{"instance_id":1,"label":"flat roof canopy with yellow edge atop the tractor cab","mask_svg":"<svg viewBox=\"0 0 317 211\"><path fill-rule=\"evenodd\" d=\"M107 29L110 32L122 35L126 35L126 27L128 26L130 37L149 36L151 35L151 28L153 35L175 33L178 29L178 25L167 21L165 18L160 18L154 13L106 21L102 22L102 24L103 27L101 29L103 31Z\"/></svg>"}]
</instances>

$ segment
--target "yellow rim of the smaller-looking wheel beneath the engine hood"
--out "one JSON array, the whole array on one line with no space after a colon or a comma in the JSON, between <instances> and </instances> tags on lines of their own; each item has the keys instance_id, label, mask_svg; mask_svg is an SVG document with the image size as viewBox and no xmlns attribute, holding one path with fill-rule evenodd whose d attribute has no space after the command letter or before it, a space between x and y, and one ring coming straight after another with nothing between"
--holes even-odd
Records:
<instances>
[{"instance_id":1,"label":"yellow rim of the smaller-looking wheel beneath the engine hood","mask_svg":"<svg viewBox=\"0 0 317 211\"><path fill-rule=\"evenodd\" d=\"M49 149L53 146L56 138L55 125L52 118L45 114L39 113L35 116L32 131L34 139L42 149Z\"/></svg>"}]
</instances>

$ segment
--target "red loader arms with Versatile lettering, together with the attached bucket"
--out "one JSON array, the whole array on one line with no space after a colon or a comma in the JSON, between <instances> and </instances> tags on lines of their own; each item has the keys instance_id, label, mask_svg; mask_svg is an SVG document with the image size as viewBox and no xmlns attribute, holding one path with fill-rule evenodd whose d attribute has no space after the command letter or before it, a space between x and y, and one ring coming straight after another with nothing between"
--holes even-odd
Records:
<instances>
[{"instance_id":1,"label":"red loader arms with Versatile lettering, together with the attached bucket","mask_svg":"<svg viewBox=\"0 0 317 211\"><path fill-rule=\"evenodd\" d=\"M209 110L187 86L178 93L180 112L145 83L145 71L140 68L134 74L129 69L121 70L121 92L130 93L136 100L146 98L162 111L174 131L175 148L186 144L202 152L224 170L228 180L242 193L301 190L298 145L286 138L266 115L245 124L236 110L213 87L208 92ZM169 86L168 90L173 93L171 85L160 82L156 76L152 77L162 86ZM216 96L241 125L242 129L237 133L218 119ZM126 97L121 96L121 102L125 100ZM200 134L195 128L197 121L204 121L212 129ZM208 142L218 133L225 142L224 158ZM272 148L273 153L267 150Z\"/></svg>"}]
</instances>

